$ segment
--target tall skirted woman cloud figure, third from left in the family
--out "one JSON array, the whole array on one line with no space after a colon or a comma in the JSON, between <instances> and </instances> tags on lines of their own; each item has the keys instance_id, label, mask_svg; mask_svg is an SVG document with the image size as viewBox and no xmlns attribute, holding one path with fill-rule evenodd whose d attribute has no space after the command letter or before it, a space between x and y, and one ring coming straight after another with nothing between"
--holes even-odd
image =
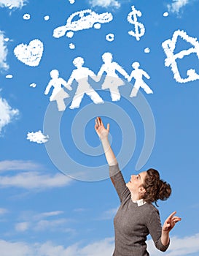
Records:
<instances>
[{"instance_id":1,"label":"tall skirted woman cloud figure, third from left in the family","mask_svg":"<svg viewBox=\"0 0 199 256\"><path fill-rule=\"evenodd\" d=\"M101 89L109 89L112 101L118 101L120 100L120 91L118 87L124 86L125 83L121 78L119 78L116 72L119 72L126 79L128 78L128 73L125 72L125 69L117 64L117 62L112 61L112 59L112 53L104 53L102 55L102 60L104 61L104 64L102 64L98 72L98 77L101 77L101 75L106 72L106 78L101 86Z\"/></svg>"}]
</instances>

